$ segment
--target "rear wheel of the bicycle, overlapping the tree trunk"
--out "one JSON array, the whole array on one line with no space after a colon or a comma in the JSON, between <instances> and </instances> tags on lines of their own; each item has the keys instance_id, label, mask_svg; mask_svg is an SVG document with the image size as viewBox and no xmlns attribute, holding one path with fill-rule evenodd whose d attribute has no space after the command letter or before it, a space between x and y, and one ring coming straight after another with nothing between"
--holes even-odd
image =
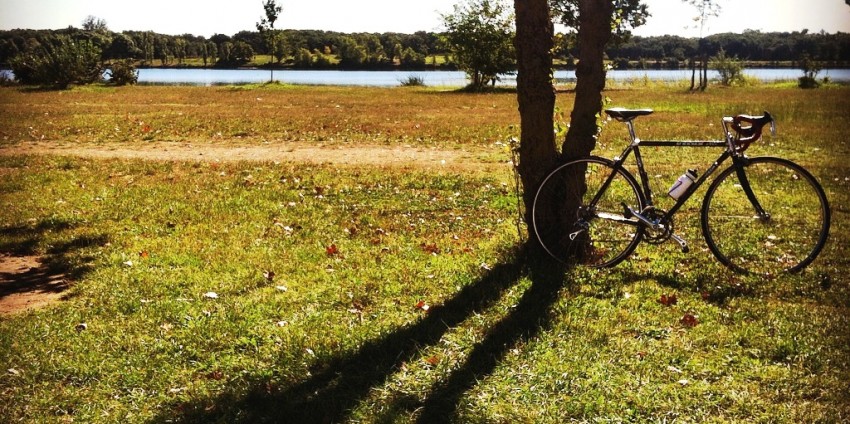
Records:
<instances>
[{"instance_id":1,"label":"rear wheel of the bicycle, overlapping the tree trunk","mask_svg":"<svg viewBox=\"0 0 850 424\"><path fill-rule=\"evenodd\" d=\"M571 176L581 174L580 187L568 183ZM597 194L598 201L591 205ZM562 209L564 199L581 199L572 217ZM615 170L608 159L587 157L560 165L546 176L534 196L532 226L543 249L559 262L612 267L635 250L644 231L636 218L625 217L623 205L642 210L644 203L643 192L627 170Z\"/></svg>"}]
</instances>

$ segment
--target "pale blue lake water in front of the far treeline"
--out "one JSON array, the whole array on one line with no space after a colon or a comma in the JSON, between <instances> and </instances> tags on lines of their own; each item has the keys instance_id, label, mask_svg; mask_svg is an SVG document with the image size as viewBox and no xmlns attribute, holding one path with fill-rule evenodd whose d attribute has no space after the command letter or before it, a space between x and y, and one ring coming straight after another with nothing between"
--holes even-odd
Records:
<instances>
[{"instance_id":1,"label":"pale blue lake water in front of the far treeline","mask_svg":"<svg viewBox=\"0 0 850 424\"><path fill-rule=\"evenodd\" d=\"M799 69L746 69L744 73L762 81L796 80L802 76ZM11 71L0 70L0 74L11 77ZM139 69L142 84L249 84L266 82L269 71L260 69ZM421 78L431 87L462 87L468 83L461 71L310 71L276 70L274 79L289 84L309 85L356 85L370 87L392 87L401 85L410 77ZM829 77L832 81L850 82L850 69L824 69L818 79ZM690 70L612 70L608 78L613 81L642 80L689 81ZM717 78L716 71L709 71L709 78ZM574 71L555 71L559 83L575 81ZM515 86L516 76L506 75L500 86Z\"/></svg>"}]
</instances>

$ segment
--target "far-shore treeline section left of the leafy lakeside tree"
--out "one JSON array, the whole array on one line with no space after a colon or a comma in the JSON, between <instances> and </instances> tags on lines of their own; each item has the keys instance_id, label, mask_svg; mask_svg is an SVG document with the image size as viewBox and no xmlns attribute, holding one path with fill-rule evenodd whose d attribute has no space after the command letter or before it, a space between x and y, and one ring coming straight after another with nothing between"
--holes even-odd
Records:
<instances>
[{"instance_id":1,"label":"far-shore treeline section left of the leafy lakeside tree","mask_svg":"<svg viewBox=\"0 0 850 424\"><path fill-rule=\"evenodd\" d=\"M445 55L441 37L433 32L354 33L318 30L281 30L269 46L259 32L241 31L210 38L164 35L151 31L111 32L106 29L16 29L0 31L0 65L17 55L53 44L55 39L91 42L106 62L132 59L139 66L239 67L257 55L271 57L270 66L297 68L421 68L426 57ZM441 61L442 66L451 66Z\"/></svg>"}]
</instances>

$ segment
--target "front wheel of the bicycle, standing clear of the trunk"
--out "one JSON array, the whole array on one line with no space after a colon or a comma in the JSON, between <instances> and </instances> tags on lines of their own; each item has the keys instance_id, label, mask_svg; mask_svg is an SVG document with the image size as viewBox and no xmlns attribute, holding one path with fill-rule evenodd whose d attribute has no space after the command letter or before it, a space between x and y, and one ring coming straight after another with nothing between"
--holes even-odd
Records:
<instances>
[{"instance_id":1,"label":"front wheel of the bicycle, standing clear of the trunk","mask_svg":"<svg viewBox=\"0 0 850 424\"><path fill-rule=\"evenodd\" d=\"M749 187L751 190L747 190ZM777 275L809 265L829 234L826 194L789 160L745 159L723 171L703 200L702 232L721 263L740 273Z\"/></svg>"}]
</instances>

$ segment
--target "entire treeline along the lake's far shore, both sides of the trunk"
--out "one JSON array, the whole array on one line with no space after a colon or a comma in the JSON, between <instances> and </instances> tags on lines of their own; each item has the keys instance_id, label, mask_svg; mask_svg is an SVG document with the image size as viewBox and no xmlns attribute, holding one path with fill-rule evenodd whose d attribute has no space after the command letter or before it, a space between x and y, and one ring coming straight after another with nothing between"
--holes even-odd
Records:
<instances>
[{"instance_id":1,"label":"entire treeline along the lake's far shore, both sides of the trunk","mask_svg":"<svg viewBox=\"0 0 850 424\"><path fill-rule=\"evenodd\" d=\"M55 44L56 40L85 41L96 46L105 62L131 59L139 66L239 67L267 55L264 66L309 68L384 69L393 67L452 67L444 34L419 31L401 33L339 33L318 30L282 30L277 44L268 45L259 32L242 31L232 36L210 38L164 35L150 31L112 32L105 27L60 30L16 29L0 31L0 66L8 67L22 53ZM559 35L556 56L562 66L571 66L575 54L572 38ZM611 45L608 59L618 69L688 66L697 56L715 56L723 51L764 66L794 66L803 57L825 67L850 66L850 34L762 33L717 34L704 39L678 36L638 37ZM428 60L427 58L432 58ZM441 60L436 60L441 57ZM426 63L427 62L427 63ZM254 62L256 64L256 62ZM438 65L439 64L439 65Z\"/></svg>"}]
</instances>

